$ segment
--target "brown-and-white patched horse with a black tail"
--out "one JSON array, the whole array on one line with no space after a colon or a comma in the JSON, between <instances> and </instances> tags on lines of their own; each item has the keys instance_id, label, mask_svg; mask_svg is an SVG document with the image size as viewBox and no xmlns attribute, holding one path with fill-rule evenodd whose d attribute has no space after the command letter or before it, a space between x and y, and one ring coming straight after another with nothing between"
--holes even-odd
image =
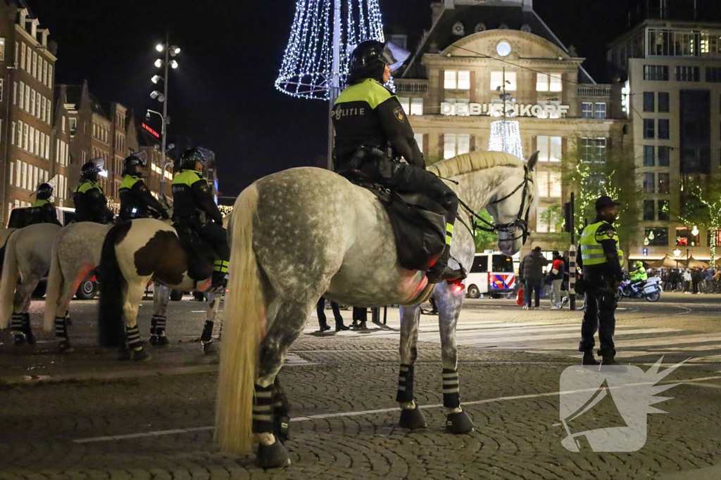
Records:
<instances>
[{"instance_id":1,"label":"brown-and-white patched horse with a black tail","mask_svg":"<svg viewBox=\"0 0 721 480\"><path fill-rule=\"evenodd\" d=\"M230 219L231 215L224 217L224 225L228 225ZM205 265L207 268L200 268L207 273L207 276L203 274L202 281L195 281L188 275L190 260L176 230L164 222L136 219L112 227L100 255L100 345L120 346L127 338L128 352L133 360L149 359L149 353L141 346L137 317L145 286L153 280L156 285L162 284L168 289L208 292L208 311L200 341L205 353L214 351L213 325L223 292L210 290L212 260Z\"/></svg>"}]
</instances>

